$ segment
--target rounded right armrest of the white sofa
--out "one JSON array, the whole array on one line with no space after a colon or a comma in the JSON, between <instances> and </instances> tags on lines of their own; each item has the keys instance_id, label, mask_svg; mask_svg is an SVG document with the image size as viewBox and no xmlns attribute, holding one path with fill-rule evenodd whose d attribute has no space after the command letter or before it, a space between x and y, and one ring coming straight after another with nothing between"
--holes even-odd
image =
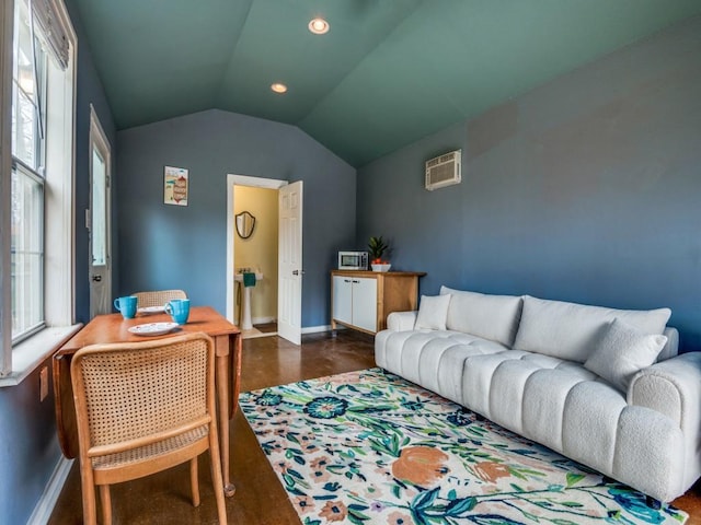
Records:
<instances>
[{"instance_id":1,"label":"rounded right armrest of the white sofa","mask_svg":"<svg viewBox=\"0 0 701 525\"><path fill-rule=\"evenodd\" d=\"M701 352L682 353L637 372L628 402L664 413L696 440L701 430Z\"/></svg>"}]
</instances>

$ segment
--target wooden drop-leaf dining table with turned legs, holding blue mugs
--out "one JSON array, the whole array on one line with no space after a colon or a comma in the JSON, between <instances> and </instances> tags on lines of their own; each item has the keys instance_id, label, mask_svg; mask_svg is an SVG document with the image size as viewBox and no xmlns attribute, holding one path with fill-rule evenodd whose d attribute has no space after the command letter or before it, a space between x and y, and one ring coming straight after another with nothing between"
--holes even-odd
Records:
<instances>
[{"instance_id":1,"label":"wooden drop-leaf dining table with turned legs, holding blue mugs","mask_svg":"<svg viewBox=\"0 0 701 525\"><path fill-rule=\"evenodd\" d=\"M70 382L72 355L88 345L104 342L137 342L142 336L135 336L128 328L143 323L172 320L170 315L137 315L125 319L122 314L97 315L76 334L55 354L53 360L54 400L56 404L56 427L64 455L78 456L78 430L73 407L73 388ZM179 329L157 336L163 338L176 334L204 331L215 341L217 384L217 409L221 463L226 495L233 495L234 487L229 477L229 419L235 412L241 386L241 330L209 306L193 306L187 324Z\"/></svg>"}]
</instances>

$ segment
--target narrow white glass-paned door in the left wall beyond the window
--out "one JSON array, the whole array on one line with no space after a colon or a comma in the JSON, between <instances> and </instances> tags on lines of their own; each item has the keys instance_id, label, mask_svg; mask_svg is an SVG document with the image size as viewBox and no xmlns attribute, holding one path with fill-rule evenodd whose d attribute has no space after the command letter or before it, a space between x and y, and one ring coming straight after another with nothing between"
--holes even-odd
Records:
<instances>
[{"instance_id":1,"label":"narrow white glass-paned door in the left wall beyond the window","mask_svg":"<svg viewBox=\"0 0 701 525\"><path fill-rule=\"evenodd\" d=\"M112 262L110 254L110 142L90 106L90 210L89 230L90 317L112 312Z\"/></svg>"}]
</instances>

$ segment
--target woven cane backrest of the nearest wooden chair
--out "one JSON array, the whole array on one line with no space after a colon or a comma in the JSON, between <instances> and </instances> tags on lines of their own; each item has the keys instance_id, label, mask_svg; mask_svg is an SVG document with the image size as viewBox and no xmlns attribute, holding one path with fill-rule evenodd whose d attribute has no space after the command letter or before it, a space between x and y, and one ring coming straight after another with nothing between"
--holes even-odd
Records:
<instances>
[{"instance_id":1,"label":"woven cane backrest of the nearest wooden chair","mask_svg":"<svg viewBox=\"0 0 701 525\"><path fill-rule=\"evenodd\" d=\"M216 417L214 354L206 334L76 352L71 381L81 447L147 444Z\"/></svg>"}]
</instances>

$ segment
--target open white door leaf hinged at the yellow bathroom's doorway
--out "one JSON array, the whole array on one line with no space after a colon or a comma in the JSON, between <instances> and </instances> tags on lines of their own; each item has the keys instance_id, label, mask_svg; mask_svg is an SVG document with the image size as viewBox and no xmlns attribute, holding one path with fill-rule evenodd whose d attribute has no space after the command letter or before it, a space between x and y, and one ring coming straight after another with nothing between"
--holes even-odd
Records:
<instances>
[{"instance_id":1,"label":"open white door leaf hinged at the yellow bathroom's doorway","mask_svg":"<svg viewBox=\"0 0 701 525\"><path fill-rule=\"evenodd\" d=\"M295 345L302 334L302 182L279 189L277 335Z\"/></svg>"}]
</instances>

